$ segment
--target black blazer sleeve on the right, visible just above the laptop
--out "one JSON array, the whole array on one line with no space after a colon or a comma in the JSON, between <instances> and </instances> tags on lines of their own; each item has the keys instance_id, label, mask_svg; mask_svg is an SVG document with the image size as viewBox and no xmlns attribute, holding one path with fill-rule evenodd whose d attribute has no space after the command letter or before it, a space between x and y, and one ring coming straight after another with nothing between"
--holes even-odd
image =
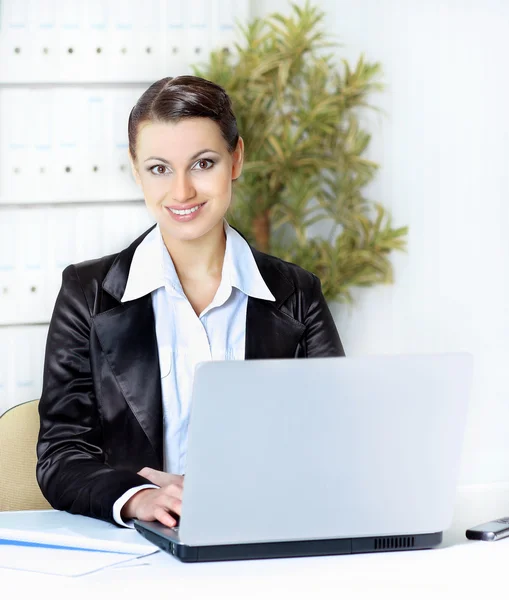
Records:
<instances>
[{"instance_id":1,"label":"black blazer sleeve on the right, visible just above the laptop","mask_svg":"<svg viewBox=\"0 0 509 600\"><path fill-rule=\"evenodd\" d=\"M308 358L345 356L336 324L322 293L322 284L316 275L313 275L313 287L304 325Z\"/></svg>"}]
</instances>

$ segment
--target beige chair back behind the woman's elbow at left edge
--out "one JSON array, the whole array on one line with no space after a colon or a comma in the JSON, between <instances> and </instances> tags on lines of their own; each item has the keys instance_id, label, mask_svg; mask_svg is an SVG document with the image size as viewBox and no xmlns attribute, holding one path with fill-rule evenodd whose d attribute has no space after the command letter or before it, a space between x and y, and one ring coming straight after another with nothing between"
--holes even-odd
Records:
<instances>
[{"instance_id":1,"label":"beige chair back behind the woman's elbow at left edge","mask_svg":"<svg viewBox=\"0 0 509 600\"><path fill-rule=\"evenodd\" d=\"M31 400L0 416L0 511L51 508L35 476L38 406Z\"/></svg>"}]
</instances>

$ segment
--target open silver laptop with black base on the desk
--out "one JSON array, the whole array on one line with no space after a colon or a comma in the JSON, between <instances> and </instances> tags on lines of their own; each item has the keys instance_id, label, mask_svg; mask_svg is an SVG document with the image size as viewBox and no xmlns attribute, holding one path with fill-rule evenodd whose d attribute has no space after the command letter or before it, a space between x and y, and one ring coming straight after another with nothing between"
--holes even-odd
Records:
<instances>
[{"instance_id":1,"label":"open silver laptop with black base on the desk","mask_svg":"<svg viewBox=\"0 0 509 600\"><path fill-rule=\"evenodd\" d=\"M134 526L187 562L436 547L472 371L463 353L201 363L178 527Z\"/></svg>"}]
</instances>

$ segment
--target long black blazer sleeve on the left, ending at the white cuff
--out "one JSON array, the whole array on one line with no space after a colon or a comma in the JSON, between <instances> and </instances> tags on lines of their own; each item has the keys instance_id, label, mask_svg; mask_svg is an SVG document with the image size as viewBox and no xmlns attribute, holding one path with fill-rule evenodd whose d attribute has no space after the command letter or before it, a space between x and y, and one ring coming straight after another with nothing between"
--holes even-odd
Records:
<instances>
[{"instance_id":1,"label":"long black blazer sleeve on the left, ending at the white cuff","mask_svg":"<svg viewBox=\"0 0 509 600\"><path fill-rule=\"evenodd\" d=\"M46 343L37 480L54 508L114 522L115 501L129 488L150 482L106 464L90 366L91 323L71 265L62 275Z\"/></svg>"}]
</instances>

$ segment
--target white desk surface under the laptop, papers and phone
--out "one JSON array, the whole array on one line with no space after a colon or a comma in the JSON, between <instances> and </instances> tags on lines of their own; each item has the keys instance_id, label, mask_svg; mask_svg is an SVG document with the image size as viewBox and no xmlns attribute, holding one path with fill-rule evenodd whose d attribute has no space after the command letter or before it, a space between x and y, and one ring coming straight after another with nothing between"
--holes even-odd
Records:
<instances>
[{"instance_id":1,"label":"white desk surface under the laptop, papers and phone","mask_svg":"<svg viewBox=\"0 0 509 600\"><path fill-rule=\"evenodd\" d=\"M482 593L505 598L509 539L471 542L464 532L509 514L508 500L507 484L460 488L453 526L434 550L198 564L183 564L159 552L78 578L0 569L0 596L452 600Z\"/></svg>"}]
</instances>

